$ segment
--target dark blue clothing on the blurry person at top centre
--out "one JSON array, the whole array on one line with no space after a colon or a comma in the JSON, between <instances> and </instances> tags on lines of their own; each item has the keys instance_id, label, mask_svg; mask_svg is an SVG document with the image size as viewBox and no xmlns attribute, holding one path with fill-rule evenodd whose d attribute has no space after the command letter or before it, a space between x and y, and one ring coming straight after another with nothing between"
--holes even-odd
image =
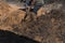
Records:
<instances>
[{"instance_id":1,"label":"dark blue clothing on the blurry person at top centre","mask_svg":"<svg viewBox=\"0 0 65 43\"><path fill-rule=\"evenodd\" d=\"M32 0L29 0L26 2L27 6L31 5ZM30 12L34 12L37 14L37 11L42 6L42 3L36 1L36 4L34 5L34 9L30 10Z\"/></svg>"}]
</instances>

